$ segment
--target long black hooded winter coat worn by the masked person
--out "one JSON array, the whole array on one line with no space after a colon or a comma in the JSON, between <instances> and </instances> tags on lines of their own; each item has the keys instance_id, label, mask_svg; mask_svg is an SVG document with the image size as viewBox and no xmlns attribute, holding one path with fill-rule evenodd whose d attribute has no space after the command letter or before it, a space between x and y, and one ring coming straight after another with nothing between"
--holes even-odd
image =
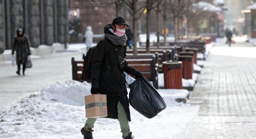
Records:
<instances>
[{"instance_id":1,"label":"long black hooded winter coat worn by the masked person","mask_svg":"<svg viewBox=\"0 0 256 139\"><path fill-rule=\"evenodd\" d=\"M104 28L104 33L114 35L107 27L108 26ZM104 54L106 45L108 45L110 49L107 54ZM108 118L117 119L117 103L120 101L130 121L125 74L122 73L119 68L114 46L115 45L109 40L106 41L103 39L98 42L91 67L91 87L99 88L100 94L107 95ZM118 45L116 47L118 48L119 55L125 58L126 46ZM127 66L125 72L135 75L137 70L132 66Z\"/></svg>"}]
</instances>

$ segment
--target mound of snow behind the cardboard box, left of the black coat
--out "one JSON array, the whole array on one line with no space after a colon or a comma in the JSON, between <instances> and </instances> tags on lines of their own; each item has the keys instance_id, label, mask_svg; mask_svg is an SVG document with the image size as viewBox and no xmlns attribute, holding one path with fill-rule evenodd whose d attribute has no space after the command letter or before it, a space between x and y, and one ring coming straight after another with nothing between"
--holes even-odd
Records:
<instances>
[{"instance_id":1,"label":"mound of snow behind the cardboard box, left of the black coat","mask_svg":"<svg viewBox=\"0 0 256 139\"><path fill-rule=\"evenodd\" d=\"M46 101L81 106L85 104L84 96L90 95L91 84L84 81L66 81L55 83L53 86L43 88L41 98Z\"/></svg>"}]
</instances>

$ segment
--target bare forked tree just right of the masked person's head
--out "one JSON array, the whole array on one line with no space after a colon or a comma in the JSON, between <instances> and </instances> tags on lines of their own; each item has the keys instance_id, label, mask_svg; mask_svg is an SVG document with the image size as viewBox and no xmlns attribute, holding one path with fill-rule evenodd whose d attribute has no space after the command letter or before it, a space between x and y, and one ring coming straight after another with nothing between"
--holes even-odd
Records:
<instances>
[{"instance_id":1,"label":"bare forked tree just right of the masked person's head","mask_svg":"<svg viewBox=\"0 0 256 139\"><path fill-rule=\"evenodd\" d=\"M137 55L137 23L139 17L141 17L145 4L137 8L139 0L128 0L126 5L129 7L129 13L132 15L132 32L133 32L133 55Z\"/></svg>"}]
</instances>

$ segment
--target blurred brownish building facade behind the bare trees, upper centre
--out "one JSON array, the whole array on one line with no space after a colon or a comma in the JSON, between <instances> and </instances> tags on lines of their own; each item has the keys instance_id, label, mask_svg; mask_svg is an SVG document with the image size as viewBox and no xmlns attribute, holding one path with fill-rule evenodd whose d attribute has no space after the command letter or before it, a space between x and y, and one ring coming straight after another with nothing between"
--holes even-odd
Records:
<instances>
[{"instance_id":1,"label":"blurred brownish building facade behind the bare trees, upper centre","mask_svg":"<svg viewBox=\"0 0 256 139\"><path fill-rule=\"evenodd\" d=\"M138 2L138 8L141 7L143 4L145 4L143 1ZM113 18L116 17L115 13L115 5L109 5L109 4L102 4L97 2L92 2L91 0L70 0L70 9L80 9L80 19L82 22L82 31L83 34L85 32L85 29L87 26L92 26L93 33L94 34L104 34L103 28L106 24L110 24L113 20ZM121 16L126 19L127 24L132 29L132 16L128 12L128 7L126 5L123 6L121 10ZM156 12L152 10L151 12L151 26L150 26L150 32L156 32ZM138 33L145 33L146 30L146 15L143 14L138 19ZM172 19L168 15L167 18L167 28L169 29L169 32L172 31ZM161 14L159 15L159 22L160 22L160 30L163 29L163 17ZM97 43L97 39L93 39L95 43Z\"/></svg>"}]
</instances>

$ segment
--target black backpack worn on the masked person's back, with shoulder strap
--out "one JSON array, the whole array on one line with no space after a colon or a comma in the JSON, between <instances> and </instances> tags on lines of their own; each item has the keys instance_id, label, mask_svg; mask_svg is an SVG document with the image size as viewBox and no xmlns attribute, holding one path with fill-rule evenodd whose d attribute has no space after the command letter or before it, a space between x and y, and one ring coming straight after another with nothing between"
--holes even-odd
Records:
<instances>
[{"instance_id":1,"label":"black backpack worn on the masked person's back, with shoulder strap","mask_svg":"<svg viewBox=\"0 0 256 139\"><path fill-rule=\"evenodd\" d=\"M105 59L107 58L106 54L108 53L110 47L107 45L108 41L106 40L106 38L104 38L104 40L106 41L105 52L104 52L104 59ZM84 57L84 67L82 70L81 81L87 81L89 83L91 82L91 66L92 66L92 60L93 60L93 56L96 49L97 49L97 46L91 47L87 51L86 56Z\"/></svg>"}]
</instances>

